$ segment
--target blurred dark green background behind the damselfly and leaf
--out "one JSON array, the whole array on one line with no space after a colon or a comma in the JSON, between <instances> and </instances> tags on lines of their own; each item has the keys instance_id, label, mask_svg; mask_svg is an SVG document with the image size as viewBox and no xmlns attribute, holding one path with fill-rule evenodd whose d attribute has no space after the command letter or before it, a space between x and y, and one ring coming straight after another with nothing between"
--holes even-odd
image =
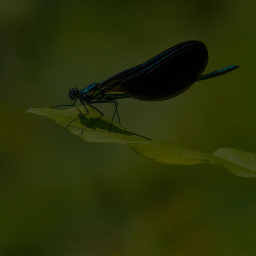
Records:
<instances>
[{"instance_id":1,"label":"blurred dark green background behind the damselfly and leaf","mask_svg":"<svg viewBox=\"0 0 256 256\"><path fill-rule=\"evenodd\" d=\"M172 100L120 100L122 124L207 153L255 152L255 10L238 0L2 0L0 254L255 255L255 180L159 164L25 115L196 39L209 50L206 73L241 68Z\"/></svg>"}]
</instances>

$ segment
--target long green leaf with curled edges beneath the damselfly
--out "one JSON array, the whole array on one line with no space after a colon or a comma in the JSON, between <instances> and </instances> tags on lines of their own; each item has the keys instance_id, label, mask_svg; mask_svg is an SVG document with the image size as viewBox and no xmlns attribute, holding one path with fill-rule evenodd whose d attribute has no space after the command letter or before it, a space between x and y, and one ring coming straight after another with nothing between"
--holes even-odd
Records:
<instances>
[{"instance_id":1,"label":"long green leaf with curled edges beneath the damselfly","mask_svg":"<svg viewBox=\"0 0 256 256\"><path fill-rule=\"evenodd\" d=\"M99 116L93 108L89 108L90 115L84 117L82 111L84 111L83 107L66 110L31 108L27 110L27 113L50 118L61 127L66 127L68 122L81 117L72 122L66 129L87 142L126 145L135 153L159 163L177 165L211 164L224 167L239 177L256 177L256 154L233 148L221 148L211 155L193 149L174 146L171 143L154 141L117 124L111 126L111 131L113 132L108 132L110 121L105 117L93 123L81 134L81 130Z\"/></svg>"}]
</instances>

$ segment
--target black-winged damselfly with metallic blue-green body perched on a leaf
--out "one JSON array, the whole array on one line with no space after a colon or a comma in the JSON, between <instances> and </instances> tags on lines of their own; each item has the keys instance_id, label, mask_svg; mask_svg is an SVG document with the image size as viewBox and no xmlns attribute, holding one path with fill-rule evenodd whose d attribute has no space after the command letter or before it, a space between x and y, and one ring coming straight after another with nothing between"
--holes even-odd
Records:
<instances>
[{"instance_id":1,"label":"black-winged damselfly with metallic blue-green body perched on a leaf","mask_svg":"<svg viewBox=\"0 0 256 256\"><path fill-rule=\"evenodd\" d=\"M226 68L202 75L208 62L208 52L206 45L200 41L187 41L177 44L166 51L159 53L154 58L145 63L126 69L114 76L110 76L101 83L93 83L83 90L76 87L69 90L70 100L74 100L72 105L61 105L54 107L74 106L79 100L84 106L86 113L72 121L89 114L86 105L94 108L100 116L84 129L99 120L103 113L94 103L114 103L115 113L111 119L108 131L113 123L114 117L118 114L118 102L123 98L133 98L145 101L160 101L171 99L186 91L195 82L224 75L239 66L231 65ZM52 108L54 108L52 107Z\"/></svg>"}]
</instances>

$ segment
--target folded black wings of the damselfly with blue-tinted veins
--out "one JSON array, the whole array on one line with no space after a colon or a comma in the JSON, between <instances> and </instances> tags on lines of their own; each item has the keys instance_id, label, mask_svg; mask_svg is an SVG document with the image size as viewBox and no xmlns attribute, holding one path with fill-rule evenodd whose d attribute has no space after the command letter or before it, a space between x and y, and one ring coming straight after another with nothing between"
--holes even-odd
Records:
<instances>
[{"instance_id":1,"label":"folded black wings of the damselfly with blue-tinted veins","mask_svg":"<svg viewBox=\"0 0 256 256\"><path fill-rule=\"evenodd\" d=\"M126 69L101 83L107 93L129 93L139 100L165 100L187 90L208 62L204 43L187 41L147 62Z\"/></svg>"}]
</instances>

